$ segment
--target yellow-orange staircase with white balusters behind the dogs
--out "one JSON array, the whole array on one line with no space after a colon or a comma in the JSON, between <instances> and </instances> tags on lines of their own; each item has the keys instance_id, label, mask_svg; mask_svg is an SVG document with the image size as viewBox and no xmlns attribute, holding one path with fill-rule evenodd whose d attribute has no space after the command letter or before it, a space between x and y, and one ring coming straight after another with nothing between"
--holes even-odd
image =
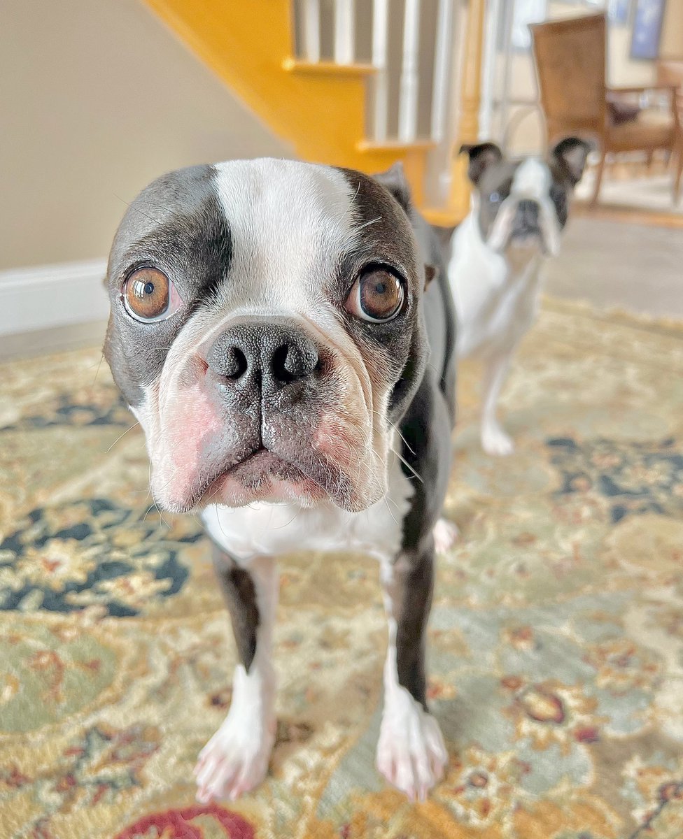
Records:
<instances>
[{"instance_id":1,"label":"yellow-orange staircase with white balusters behind the dogs","mask_svg":"<svg viewBox=\"0 0 683 839\"><path fill-rule=\"evenodd\" d=\"M434 224L469 190L484 0L145 0L298 157L365 172L401 160Z\"/></svg>"}]
</instances>

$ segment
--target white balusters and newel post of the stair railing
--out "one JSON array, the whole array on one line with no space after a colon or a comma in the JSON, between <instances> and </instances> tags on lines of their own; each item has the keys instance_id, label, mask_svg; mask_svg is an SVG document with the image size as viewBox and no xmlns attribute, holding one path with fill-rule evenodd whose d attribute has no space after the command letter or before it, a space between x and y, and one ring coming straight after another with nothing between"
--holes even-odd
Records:
<instances>
[{"instance_id":1,"label":"white balusters and newel post of the stair railing","mask_svg":"<svg viewBox=\"0 0 683 839\"><path fill-rule=\"evenodd\" d=\"M428 149L423 193L431 206L444 205L459 121L467 0L293 3L297 58L340 67L371 65L365 144ZM426 50L424 44L431 46Z\"/></svg>"}]
</instances>

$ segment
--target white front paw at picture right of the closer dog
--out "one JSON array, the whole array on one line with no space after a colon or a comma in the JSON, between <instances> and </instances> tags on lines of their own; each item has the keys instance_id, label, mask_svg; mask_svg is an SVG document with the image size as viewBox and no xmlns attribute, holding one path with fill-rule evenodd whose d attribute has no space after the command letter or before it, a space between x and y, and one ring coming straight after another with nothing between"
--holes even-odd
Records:
<instances>
[{"instance_id":1,"label":"white front paw at picture right of the closer dog","mask_svg":"<svg viewBox=\"0 0 683 839\"><path fill-rule=\"evenodd\" d=\"M423 801L444 777L448 753L439 723L405 688L386 702L377 743L377 769L412 801ZM393 691L392 691L393 693Z\"/></svg>"}]
</instances>

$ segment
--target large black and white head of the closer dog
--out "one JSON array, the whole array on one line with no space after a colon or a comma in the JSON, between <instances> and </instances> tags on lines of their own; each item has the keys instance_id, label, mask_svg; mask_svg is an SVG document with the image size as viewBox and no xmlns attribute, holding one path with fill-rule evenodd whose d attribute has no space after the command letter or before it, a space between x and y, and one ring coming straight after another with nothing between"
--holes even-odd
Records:
<instances>
[{"instance_id":1,"label":"large black and white head of the closer dog","mask_svg":"<svg viewBox=\"0 0 683 839\"><path fill-rule=\"evenodd\" d=\"M129 207L105 354L160 506L357 511L386 492L428 350L409 207L396 172L379 180L233 161L165 175Z\"/></svg>"}]
</instances>

